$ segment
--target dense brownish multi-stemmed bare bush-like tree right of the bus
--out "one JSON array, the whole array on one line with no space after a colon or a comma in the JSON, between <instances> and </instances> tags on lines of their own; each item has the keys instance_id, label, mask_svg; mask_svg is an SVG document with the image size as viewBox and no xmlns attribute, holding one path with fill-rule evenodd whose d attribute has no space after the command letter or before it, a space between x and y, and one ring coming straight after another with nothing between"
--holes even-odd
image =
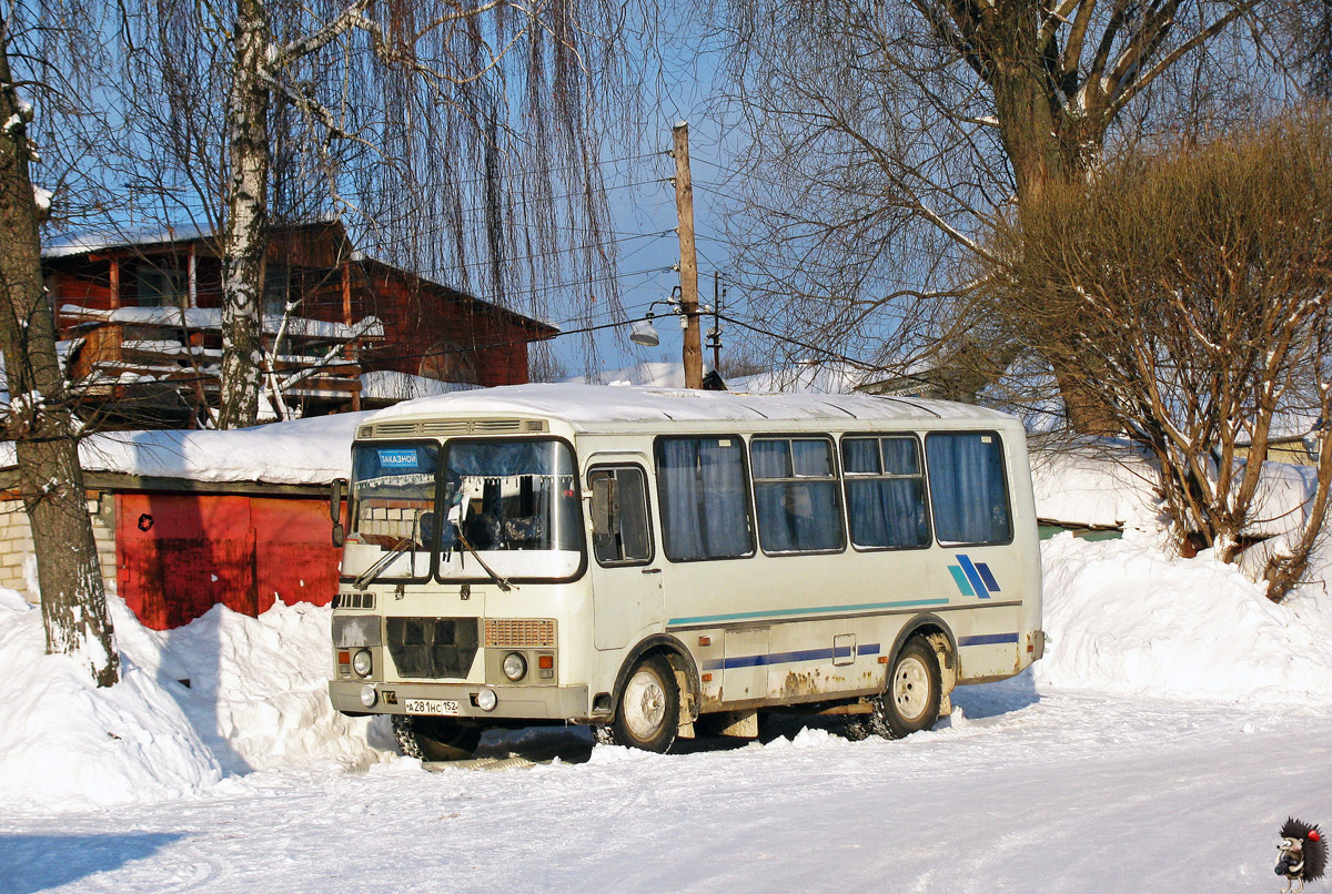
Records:
<instances>
[{"instance_id":1,"label":"dense brownish multi-stemmed bare bush-like tree right of the bus","mask_svg":"<svg viewBox=\"0 0 1332 894\"><path fill-rule=\"evenodd\" d=\"M1264 519L1273 426L1332 419L1332 113L1118 157L1000 226L991 311L1155 456L1175 539L1235 561ZM1332 494L1332 438L1295 533L1263 569L1299 583ZM1303 522L1303 523L1301 523Z\"/></svg>"}]
</instances>

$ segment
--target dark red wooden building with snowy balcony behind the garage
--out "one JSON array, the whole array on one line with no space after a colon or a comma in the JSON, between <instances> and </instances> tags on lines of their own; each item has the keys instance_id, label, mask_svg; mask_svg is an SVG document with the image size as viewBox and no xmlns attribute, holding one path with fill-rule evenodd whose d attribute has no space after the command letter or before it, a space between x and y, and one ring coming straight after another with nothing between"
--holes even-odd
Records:
<instances>
[{"instance_id":1,"label":"dark red wooden building with snowy balcony behind the garage","mask_svg":"<svg viewBox=\"0 0 1332 894\"><path fill-rule=\"evenodd\" d=\"M221 261L197 231L71 241L43 253L80 415L105 427L194 427L216 406ZM293 310L288 310L293 307ZM262 410L373 407L366 374L457 386L527 380L547 323L356 251L342 226L274 230L264 291ZM272 399L282 395L281 403Z\"/></svg>"}]
</instances>

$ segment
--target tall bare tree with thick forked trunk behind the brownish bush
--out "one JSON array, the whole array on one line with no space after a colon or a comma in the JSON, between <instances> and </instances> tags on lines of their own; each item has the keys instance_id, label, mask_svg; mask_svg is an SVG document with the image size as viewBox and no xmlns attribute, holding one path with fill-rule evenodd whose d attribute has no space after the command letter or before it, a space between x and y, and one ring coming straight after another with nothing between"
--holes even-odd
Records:
<instances>
[{"instance_id":1,"label":"tall bare tree with thick forked trunk behind the brownish bush","mask_svg":"<svg viewBox=\"0 0 1332 894\"><path fill-rule=\"evenodd\" d=\"M714 185L753 209L735 233L751 303L886 366L984 357L982 380L1011 349L955 309L979 233L1084 178L1107 141L1215 126L1297 88L1268 45L1291 9L1273 0L715 7L750 146ZM1103 430L1095 396L1064 386L1072 424Z\"/></svg>"}]
</instances>

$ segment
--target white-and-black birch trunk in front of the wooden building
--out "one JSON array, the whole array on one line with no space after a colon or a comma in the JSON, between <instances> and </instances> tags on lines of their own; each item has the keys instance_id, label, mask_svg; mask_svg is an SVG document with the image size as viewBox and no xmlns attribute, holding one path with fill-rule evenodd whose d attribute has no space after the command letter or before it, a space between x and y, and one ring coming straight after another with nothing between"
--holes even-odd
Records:
<instances>
[{"instance_id":1,"label":"white-and-black birch trunk in front of the wooden building","mask_svg":"<svg viewBox=\"0 0 1332 894\"><path fill-rule=\"evenodd\" d=\"M265 0L236 3L236 65L226 106L230 189L222 243L222 394L218 428L258 420L264 361L261 314L268 265L268 133L272 92Z\"/></svg>"}]
</instances>

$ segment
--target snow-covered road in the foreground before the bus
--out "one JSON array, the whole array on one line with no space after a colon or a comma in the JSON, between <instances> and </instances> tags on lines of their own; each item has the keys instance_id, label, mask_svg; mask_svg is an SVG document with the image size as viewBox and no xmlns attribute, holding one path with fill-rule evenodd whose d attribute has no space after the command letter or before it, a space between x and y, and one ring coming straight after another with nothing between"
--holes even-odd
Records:
<instances>
[{"instance_id":1,"label":"snow-covered road in the foreground before the bus","mask_svg":"<svg viewBox=\"0 0 1332 894\"><path fill-rule=\"evenodd\" d=\"M1332 713L974 686L902 742L778 718L654 756L581 730L551 765L414 761L0 817L0 891L1279 891L1288 814L1332 825ZM794 738L791 738L794 737ZM1311 894L1320 890L1309 886Z\"/></svg>"}]
</instances>

